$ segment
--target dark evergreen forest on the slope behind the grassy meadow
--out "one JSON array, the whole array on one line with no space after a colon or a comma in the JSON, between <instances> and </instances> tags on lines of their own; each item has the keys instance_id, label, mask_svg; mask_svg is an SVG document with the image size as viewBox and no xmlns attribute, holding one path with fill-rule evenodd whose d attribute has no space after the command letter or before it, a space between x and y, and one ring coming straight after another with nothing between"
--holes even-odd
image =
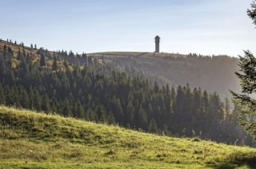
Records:
<instances>
[{"instance_id":1,"label":"dark evergreen forest on the slope behind the grassy meadow","mask_svg":"<svg viewBox=\"0 0 256 169\"><path fill-rule=\"evenodd\" d=\"M13 43L4 42L0 104L161 135L254 146L239 127L230 100L222 101L217 92L130 77L85 53L50 52L33 45L15 45L14 50Z\"/></svg>"}]
</instances>

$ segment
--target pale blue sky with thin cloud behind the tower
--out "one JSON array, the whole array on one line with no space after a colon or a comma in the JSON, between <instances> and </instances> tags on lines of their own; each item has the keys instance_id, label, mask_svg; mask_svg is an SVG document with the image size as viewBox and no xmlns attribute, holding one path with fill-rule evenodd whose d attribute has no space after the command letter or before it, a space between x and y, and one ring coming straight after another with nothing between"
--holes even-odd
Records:
<instances>
[{"instance_id":1,"label":"pale blue sky with thin cloud behind the tower","mask_svg":"<svg viewBox=\"0 0 256 169\"><path fill-rule=\"evenodd\" d=\"M256 55L252 0L0 0L0 38L48 50Z\"/></svg>"}]
</instances>

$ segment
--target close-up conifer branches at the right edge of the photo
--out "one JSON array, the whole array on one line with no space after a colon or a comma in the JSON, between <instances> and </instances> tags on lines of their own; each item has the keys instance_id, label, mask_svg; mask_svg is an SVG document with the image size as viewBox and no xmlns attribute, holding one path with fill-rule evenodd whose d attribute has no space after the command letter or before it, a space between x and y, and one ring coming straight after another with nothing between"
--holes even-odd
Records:
<instances>
[{"instance_id":1,"label":"close-up conifer branches at the right edge of the photo","mask_svg":"<svg viewBox=\"0 0 256 169\"><path fill-rule=\"evenodd\" d=\"M251 10L247 10L249 18L256 24L256 3L251 4ZM239 56L240 57L240 56ZM240 72L235 74L240 79L242 94L232 92L234 104L238 107L239 121L242 127L256 140L256 100L252 96L256 93L256 58L250 51L245 51L245 56L240 57Z\"/></svg>"}]
</instances>

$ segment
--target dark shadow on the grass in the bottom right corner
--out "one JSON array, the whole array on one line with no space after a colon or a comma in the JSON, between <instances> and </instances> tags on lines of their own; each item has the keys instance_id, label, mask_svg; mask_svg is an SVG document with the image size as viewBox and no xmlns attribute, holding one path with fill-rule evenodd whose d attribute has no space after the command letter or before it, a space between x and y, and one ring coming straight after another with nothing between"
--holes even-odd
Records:
<instances>
[{"instance_id":1,"label":"dark shadow on the grass in the bottom right corner","mask_svg":"<svg viewBox=\"0 0 256 169\"><path fill-rule=\"evenodd\" d=\"M229 155L226 158L226 161L223 161L220 164L216 164L214 168L237 168L237 167L249 167L256 168L256 154L255 152L237 152Z\"/></svg>"}]
</instances>

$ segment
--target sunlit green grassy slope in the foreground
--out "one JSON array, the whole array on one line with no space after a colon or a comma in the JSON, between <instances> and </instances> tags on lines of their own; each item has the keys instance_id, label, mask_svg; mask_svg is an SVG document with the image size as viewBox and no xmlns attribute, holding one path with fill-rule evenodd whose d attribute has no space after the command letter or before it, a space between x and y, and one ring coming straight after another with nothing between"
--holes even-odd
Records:
<instances>
[{"instance_id":1,"label":"sunlit green grassy slope in the foreground","mask_svg":"<svg viewBox=\"0 0 256 169\"><path fill-rule=\"evenodd\" d=\"M254 168L256 150L0 106L0 168Z\"/></svg>"}]
</instances>

